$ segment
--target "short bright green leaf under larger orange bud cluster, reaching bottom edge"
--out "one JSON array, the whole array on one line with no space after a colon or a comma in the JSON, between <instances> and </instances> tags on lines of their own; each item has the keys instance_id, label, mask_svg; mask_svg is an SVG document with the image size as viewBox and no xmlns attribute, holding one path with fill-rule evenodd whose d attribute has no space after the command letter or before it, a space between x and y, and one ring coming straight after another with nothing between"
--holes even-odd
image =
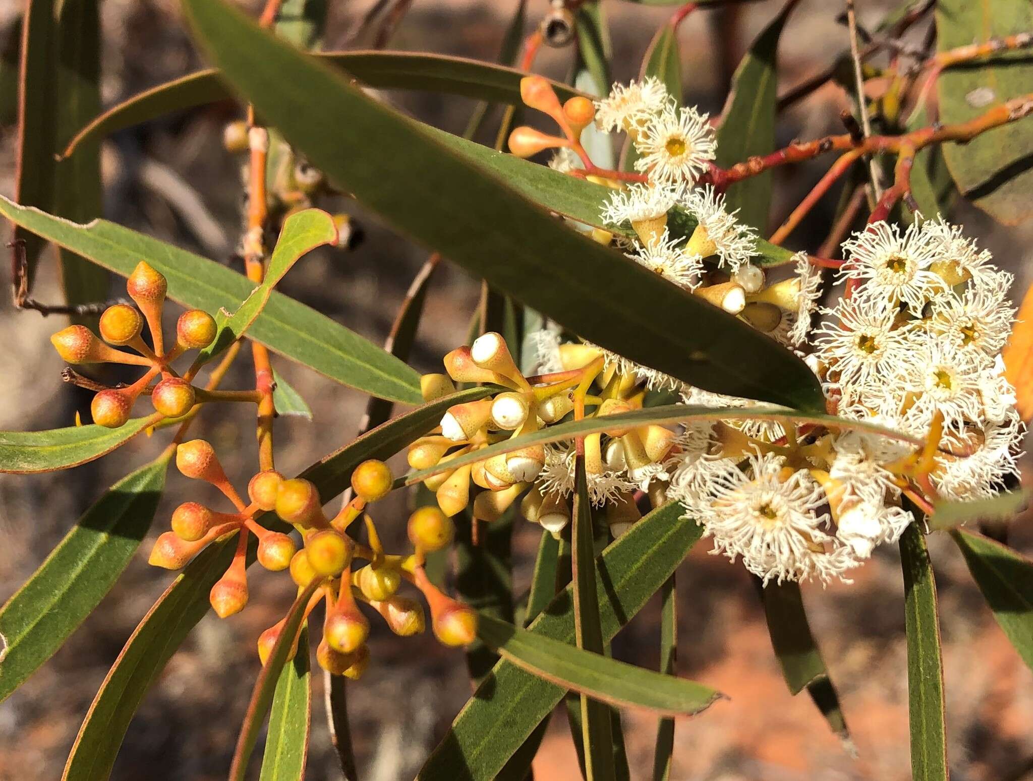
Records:
<instances>
[{"instance_id":1,"label":"short bright green leaf under larger orange bud cluster, reaching bottom edge","mask_svg":"<svg viewBox=\"0 0 1033 781\"><path fill-rule=\"evenodd\" d=\"M303 627L298 653L283 665L269 714L259 781L304 781L312 720L309 632Z\"/></svg>"}]
</instances>

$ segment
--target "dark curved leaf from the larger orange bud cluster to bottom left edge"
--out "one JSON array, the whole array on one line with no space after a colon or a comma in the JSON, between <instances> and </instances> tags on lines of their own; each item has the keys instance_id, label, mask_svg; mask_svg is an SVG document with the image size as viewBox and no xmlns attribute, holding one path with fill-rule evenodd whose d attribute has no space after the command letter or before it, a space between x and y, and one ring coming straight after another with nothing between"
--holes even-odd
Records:
<instances>
[{"instance_id":1,"label":"dark curved leaf from the larger orange bud cluster to bottom left edge","mask_svg":"<svg viewBox=\"0 0 1033 781\"><path fill-rule=\"evenodd\" d=\"M236 548L234 533L205 549L133 630L83 720L62 781L106 781L111 776L133 714L152 681L208 613L209 592Z\"/></svg>"}]
</instances>

